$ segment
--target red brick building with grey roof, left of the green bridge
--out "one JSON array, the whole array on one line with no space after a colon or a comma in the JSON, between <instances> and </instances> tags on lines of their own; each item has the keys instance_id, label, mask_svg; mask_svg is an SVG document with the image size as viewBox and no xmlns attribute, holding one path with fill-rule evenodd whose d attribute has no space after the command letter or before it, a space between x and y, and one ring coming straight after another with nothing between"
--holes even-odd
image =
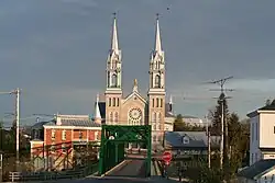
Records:
<instances>
[{"instance_id":1,"label":"red brick building with grey roof, left of the green bridge","mask_svg":"<svg viewBox=\"0 0 275 183\"><path fill-rule=\"evenodd\" d=\"M100 144L101 116L98 98L92 118L89 115L58 114L52 121L34 124L31 136L31 159L34 170L72 168L75 165L76 157L87 157L76 150L78 147ZM87 152L87 148L82 150L82 153Z\"/></svg>"}]
</instances>

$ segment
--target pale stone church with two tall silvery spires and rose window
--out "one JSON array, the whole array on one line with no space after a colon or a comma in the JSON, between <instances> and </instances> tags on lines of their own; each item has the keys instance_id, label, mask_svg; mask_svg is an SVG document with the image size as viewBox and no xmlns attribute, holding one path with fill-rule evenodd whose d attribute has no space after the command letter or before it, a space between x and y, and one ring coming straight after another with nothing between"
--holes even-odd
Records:
<instances>
[{"instance_id":1,"label":"pale stone church with two tall silvery spires and rose window","mask_svg":"<svg viewBox=\"0 0 275 183\"><path fill-rule=\"evenodd\" d=\"M172 101L166 104L165 55L158 18L155 25L155 47L148 60L148 90L144 98L139 92L138 80L133 90L124 95L122 88L122 52L119 47L117 19L113 19L111 49L107 58L105 101L97 100L95 122L107 125L152 125L153 145L163 144L165 118L174 118ZM169 125L173 125L169 124Z\"/></svg>"}]
</instances>

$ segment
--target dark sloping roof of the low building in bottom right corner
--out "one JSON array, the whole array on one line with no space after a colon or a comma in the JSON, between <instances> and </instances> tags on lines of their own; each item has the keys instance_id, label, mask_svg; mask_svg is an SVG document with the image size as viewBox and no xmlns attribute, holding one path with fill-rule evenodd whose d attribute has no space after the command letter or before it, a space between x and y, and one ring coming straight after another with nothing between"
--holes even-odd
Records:
<instances>
[{"instance_id":1,"label":"dark sloping roof of the low building in bottom right corner","mask_svg":"<svg viewBox=\"0 0 275 183\"><path fill-rule=\"evenodd\" d=\"M275 159L260 160L252 164L251 167L241 170L238 176L246 179L257 179L267 173L271 169L275 168Z\"/></svg>"}]
</instances>

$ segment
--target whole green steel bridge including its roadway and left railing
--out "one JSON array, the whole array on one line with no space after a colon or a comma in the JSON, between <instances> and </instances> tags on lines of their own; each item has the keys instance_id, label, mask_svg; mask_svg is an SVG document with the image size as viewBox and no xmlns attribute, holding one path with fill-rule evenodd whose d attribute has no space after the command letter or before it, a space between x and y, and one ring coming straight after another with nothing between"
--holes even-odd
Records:
<instances>
[{"instance_id":1,"label":"whole green steel bridge including its roadway and left railing","mask_svg":"<svg viewBox=\"0 0 275 183\"><path fill-rule=\"evenodd\" d=\"M135 144L138 149L128 149ZM102 125L99 162L81 170L40 175L13 174L13 182L172 182L162 178L160 155L152 151L151 126Z\"/></svg>"}]
</instances>

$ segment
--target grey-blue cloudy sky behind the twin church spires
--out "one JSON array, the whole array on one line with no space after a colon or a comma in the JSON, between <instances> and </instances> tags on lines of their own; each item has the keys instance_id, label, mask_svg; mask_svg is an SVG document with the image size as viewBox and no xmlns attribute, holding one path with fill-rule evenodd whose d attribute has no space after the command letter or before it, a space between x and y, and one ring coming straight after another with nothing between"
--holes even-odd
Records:
<instances>
[{"instance_id":1,"label":"grey-blue cloudy sky behind the twin church spires","mask_svg":"<svg viewBox=\"0 0 275 183\"><path fill-rule=\"evenodd\" d=\"M175 113L205 116L219 96L209 91L219 85L206 82L233 76L226 83L234 89L229 110L243 118L274 98L274 7L272 0L1 0L0 92L22 90L22 124L33 123L32 114L92 115L117 12L123 92L138 79L145 95L160 13ZM0 117L13 112L14 100L0 95Z\"/></svg>"}]
</instances>

